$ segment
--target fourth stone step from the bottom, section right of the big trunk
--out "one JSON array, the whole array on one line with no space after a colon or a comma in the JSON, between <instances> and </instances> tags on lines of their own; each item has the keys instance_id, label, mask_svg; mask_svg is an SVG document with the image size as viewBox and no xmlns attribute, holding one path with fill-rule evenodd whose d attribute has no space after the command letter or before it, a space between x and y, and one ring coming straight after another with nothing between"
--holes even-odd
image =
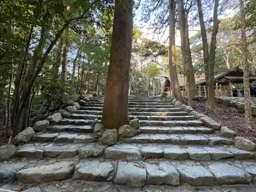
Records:
<instances>
[{"instance_id":1,"label":"fourth stone step from the bottom, section right of the big trunk","mask_svg":"<svg viewBox=\"0 0 256 192\"><path fill-rule=\"evenodd\" d=\"M172 133L172 134L212 134L215 132L214 129L208 127L197 127L197 126L174 126L174 127L162 127L162 126L141 126L139 128L141 133L147 134L161 134L161 133Z\"/></svg>"}]
</instances>

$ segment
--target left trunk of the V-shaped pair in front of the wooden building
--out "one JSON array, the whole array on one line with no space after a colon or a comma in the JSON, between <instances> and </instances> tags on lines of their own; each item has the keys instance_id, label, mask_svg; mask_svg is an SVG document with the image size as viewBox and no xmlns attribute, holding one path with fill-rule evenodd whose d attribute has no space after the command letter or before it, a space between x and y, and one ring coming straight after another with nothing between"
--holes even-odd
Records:
<instances>
[{"instance_id":1,"label":"left trunk of the V-shaped pair in front of the wooden building","mask_svg":"<svg viewBox=\"0 0 256 192\"><path fill-rule=\"evenodd\" d=\"M203 54L204 54L204 75L205 75L205 82L206 82L206 92L208 93L208 65L209 65L209 52L208 52L208 41L207 41L207 35L206 35L206 29L204 24L204 15L202 10L202 3L201 0L197 0L197 7L198 7L198 15L199 15L199 22L200 22L200 28L201 28L201 36L202 36L202 42L203 42ZM208 94L206 94L208 95Z\"/></svg>"}]
</instances>

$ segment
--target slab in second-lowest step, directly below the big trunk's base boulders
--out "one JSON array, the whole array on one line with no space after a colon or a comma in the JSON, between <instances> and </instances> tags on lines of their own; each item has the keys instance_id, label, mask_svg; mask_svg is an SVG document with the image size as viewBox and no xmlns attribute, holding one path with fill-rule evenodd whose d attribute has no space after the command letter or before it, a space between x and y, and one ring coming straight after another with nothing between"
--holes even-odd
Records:
<instances>
[{"instance_id":1,"label":"slab in second-lowest step, directly below the big trunk's base boulders","mask_svg":"<svg viewBox=\"0 0 256 192\"><path fill-rule=\"evenodd\" d=\"M106 147L105 158L120 160L141 160L139 148L130 144L115 144Z\"/></svg>"}]
</instances>

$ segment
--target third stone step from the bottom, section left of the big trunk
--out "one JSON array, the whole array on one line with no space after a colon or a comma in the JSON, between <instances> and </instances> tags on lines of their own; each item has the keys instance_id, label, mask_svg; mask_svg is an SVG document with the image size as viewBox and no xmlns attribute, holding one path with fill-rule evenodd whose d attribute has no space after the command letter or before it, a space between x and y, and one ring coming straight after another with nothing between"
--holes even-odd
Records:
<instances>
[{"instance_id":1,"label":"third stone step from the bottom, section left of the big trunk","mask_svg":"<svg viewBox=\"0 0 256 192\"><path fill-rule=\"evenodd\" d=\"M92 143L95 141L92 133L37 133L32 138L35 142L52 141L55 143Z\"/></svg>"}]
</instances>

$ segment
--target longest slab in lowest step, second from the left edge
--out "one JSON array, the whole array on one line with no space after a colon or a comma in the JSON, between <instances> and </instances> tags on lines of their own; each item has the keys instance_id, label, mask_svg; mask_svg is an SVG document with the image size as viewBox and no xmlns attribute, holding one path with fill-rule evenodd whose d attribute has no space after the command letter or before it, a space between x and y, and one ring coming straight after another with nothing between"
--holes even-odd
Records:
<instances>
[{"instance_id":1,"label":"longest slab in lowest step, second from the left edge","mask_svg":"<svg viewBox=\"0 0 256 192\"><path fill-rule=\"evenodd\" d=\"M19 170L16 177L22 183L60 181L72 177L74 166L73 162L62 161L55 164L30 167Z\"/></svg>"}]
</instances>

